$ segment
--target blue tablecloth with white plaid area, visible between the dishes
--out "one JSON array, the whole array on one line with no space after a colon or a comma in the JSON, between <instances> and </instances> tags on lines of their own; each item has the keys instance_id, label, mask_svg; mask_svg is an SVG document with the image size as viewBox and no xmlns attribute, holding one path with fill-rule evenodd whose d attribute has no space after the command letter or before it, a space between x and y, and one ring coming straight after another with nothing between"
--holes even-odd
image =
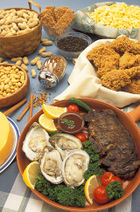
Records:
<instances>
[{"instance_id":1,"label":"blue tablecloth with white plaid area, visible between the dishes","mask_svg":"<svg viewBox=\"0 0 140 212\"><path fill-rule=\"evenodd\" d=\"M80 8L87 7L88 5L94 4L95 0L36 0L36 3L38 3L42 10L45 9L45 6L48 5L55 5L56 7L59 6L69 6L70 9L74 9L77 11ZM98 2L102 2L101 0L98 0ZM121 1L120 1L121 2ZM134 0L133 2L130 0L124 0L127 4L136 4L140 5L139 0ZM28 8L28 1L27 0L0 0L0 9L4 8ZM33 9L37 10L35 6L33 6ZM42 37L45 37L45 32L43 31ZM95 37L93 37L93 40L96 40ZM41 48L41 46L39 47ZM39 49L38 48L38 49ZM30 55L28 58L31 61L36 55L37 51L34 52L32 55ZM52 51L54 54L57 54L57 50L55 48L55 45L48 46L48 51ZM42 59L42 62L45 59ZM10 62L10 60L8 60ZM73 69L73 63L68 62L67 66L67 72L64 77L64 79L58 84L57 87L47 90L49 97L47 100L47 103L52 103L53 98L60 94L67 86L67 79L69 74L71 73ZM40 83L38 81L38 78L36 77L33 79L31 77L31 67L28 66L28 74L30 77L30 90L27 95L28 101L30 97L30 93L38 94L40 90L44 92L40 87ZM39 72L38 72L39 73ZM24 107L24 106L23 106ZM28 119L28 113L26 113L25 117L20 121L17 122L17 117L23 110L23 107L16 110L14 113L10 115L10 117L15 121L15 123L18 125L20 132L24 128L27 119ZM40 110L40 107L33 109L33 114L35 114L38 110ZM4 110L3 110L4 111ZM120 205L106 210L110 212L139 212L140 211L140 187L138 187L131 196L129 196L124 202L122 202ZM47 205L40 199L38 199L23 183L22 178L19 174L18 167L16 160L13 161L13 163L0 174L0 211L2 212L17 212L17 211L26 211L26 212L60 212L61 210L53 208L52 206Z\"/></svg>"}]
</instances>

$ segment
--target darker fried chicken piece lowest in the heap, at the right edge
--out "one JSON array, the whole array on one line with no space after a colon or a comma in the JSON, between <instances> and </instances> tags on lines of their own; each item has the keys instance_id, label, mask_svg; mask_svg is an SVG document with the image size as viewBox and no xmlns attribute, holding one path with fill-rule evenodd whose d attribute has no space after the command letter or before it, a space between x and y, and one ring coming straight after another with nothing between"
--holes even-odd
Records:
<instances>
[{"instance_id":1,"label":"darker fried chicken piece lowest in the heap, at the right edge","mask_svg":"<svg viewBox=\"0 0 140 212\"><path fill-rule=\"evenodd\" d=\"M132 79L131 84L124 87L123 91L140 94L140 79Z\"/></svg>"}]
</instances>

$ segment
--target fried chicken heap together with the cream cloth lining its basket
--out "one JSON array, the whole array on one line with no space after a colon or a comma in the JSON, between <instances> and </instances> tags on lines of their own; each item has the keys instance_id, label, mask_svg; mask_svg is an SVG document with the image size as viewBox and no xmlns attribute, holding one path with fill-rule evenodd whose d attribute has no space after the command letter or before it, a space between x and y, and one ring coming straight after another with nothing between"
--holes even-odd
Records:
<instances>
[{"instance_id":1,"label":"fried chicken heap together with the cream cloth lining its basket","mask_svg":"<svg viewBox=\"0 0 140 212\"><path fill-rule=\"evenodd\" d=\"M140 101L140 41L123 35L93 42L76 59L68 83L55 100L84 96L120 108Z\"/></svg>"}]
</instances>

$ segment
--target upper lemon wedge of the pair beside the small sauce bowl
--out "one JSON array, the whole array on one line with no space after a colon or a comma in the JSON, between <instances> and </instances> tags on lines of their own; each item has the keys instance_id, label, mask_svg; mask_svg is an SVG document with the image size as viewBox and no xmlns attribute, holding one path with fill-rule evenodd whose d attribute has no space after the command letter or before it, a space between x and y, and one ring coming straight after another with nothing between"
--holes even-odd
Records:
<instances>
[{"instance_id":1,"label":"upper lemon wedge of the pair beside the small sauce bowl","mask_svg":"<svg viewBox=\"0 0 140 212\"><path fill-rule=\"evenodd\" d=\"M59 118L61 114L67 112L67 107L57 107L52 105L42 105L43 112L48 118Z\"/></svg>"}]
</instances>

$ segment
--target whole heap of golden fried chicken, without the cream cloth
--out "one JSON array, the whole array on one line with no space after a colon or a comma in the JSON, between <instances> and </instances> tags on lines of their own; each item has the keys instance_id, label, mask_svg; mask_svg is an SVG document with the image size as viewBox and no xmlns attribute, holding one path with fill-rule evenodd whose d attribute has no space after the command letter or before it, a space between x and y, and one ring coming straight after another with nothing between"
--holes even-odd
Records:
<instances>
[{"instance_id":1,"label":"whole heap of golden fried chicken, without the cream cloth","mask_svg":"<svg viewBox=\"0 0 140 212\"><path fill-rule=\"evenodd\" d=\"M96 46L87 58L104 87L140 94L140 42L121 36Z\"/></svg>"}]
</instances>

